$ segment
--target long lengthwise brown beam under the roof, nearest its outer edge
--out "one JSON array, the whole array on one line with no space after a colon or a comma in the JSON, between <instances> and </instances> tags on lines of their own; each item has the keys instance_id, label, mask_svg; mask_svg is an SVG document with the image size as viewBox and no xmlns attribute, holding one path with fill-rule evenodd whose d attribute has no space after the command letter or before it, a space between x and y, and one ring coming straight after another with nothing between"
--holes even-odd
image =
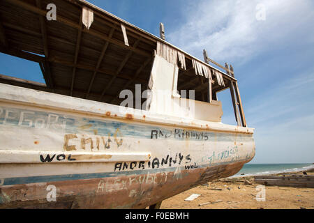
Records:
<instances>
[{"instance_id":1,"label":"long lengthwise brown beam under the roof, nearest its outer edge","mask_svg":"<svg viewBox=\"0 0 314 223\"><path fill-rule=\"evenodd\" d=\"M41 10L40 8L37 8L36 6L32 6L31 4L26 3L24 1L21 1L21 0L3 0L3 1L8 1L9 3L14 4L15 6L24 8L25 10L29 10L32 13L36 13L36 14L44 16L44 17L46 16L46 13L47 13L46 10ZM103 33L100 33L98 31L95 31L92 29L89 29L89 30L83 29L82 26L80 26L80 23L75 23L71 20L68 20L65 17L62 17L61 15L58 15L57 22L61 22L63 24L66 24L67 26L70 26L70 27L75 28L75 29L81 29L84 33L88 33L88 34L95 36L97 38L100 38L102 40L106 40L110 43L118 45L119 47L131 50L137 54L141 54L141 55L147 56L147 57L151 56L151 54L145 52L142 49L136 49L134 47L128 47L128 46L124 45L124 42L122 42L121 40L109 38L109 36L105 36Z\"/></svg>"}]
</instances>

